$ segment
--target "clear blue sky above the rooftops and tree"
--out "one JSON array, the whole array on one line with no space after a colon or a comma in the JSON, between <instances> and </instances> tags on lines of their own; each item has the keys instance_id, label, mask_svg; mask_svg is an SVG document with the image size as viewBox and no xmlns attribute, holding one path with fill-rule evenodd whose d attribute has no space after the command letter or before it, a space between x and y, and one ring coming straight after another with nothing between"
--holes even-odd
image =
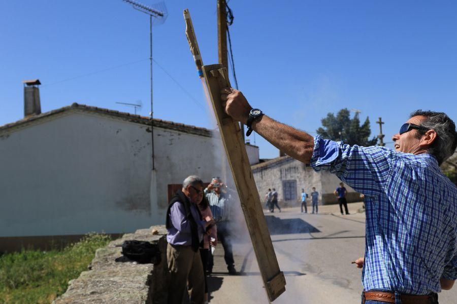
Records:
<instances>
[{"instance_id":1,"label":"clear blue sky above the rooftops and tree","mask_svg":"<svg viewBox=\"0 0 457 304\"><path fill-rule=\"evenodd\" d=\"M154 117L209 128L182 11L190 9L204 63L217 63L216 0L165 4L169 16L153 29L153 57L188 93L154 64ZM385 141L414 109L445 111L457 121L457 3L228 4L239 87L274 119L315 134L328 112L355 108L374 134L382 117ZM0 125L23 117L21 81L35 78L43 84L43 112L73 102L133 112L116 102L141 100L140 114L148 116L149 18L128 4L0 0L0 28ZM260 157L278 155L255 140Z\"/></svg>"}]
</instances>

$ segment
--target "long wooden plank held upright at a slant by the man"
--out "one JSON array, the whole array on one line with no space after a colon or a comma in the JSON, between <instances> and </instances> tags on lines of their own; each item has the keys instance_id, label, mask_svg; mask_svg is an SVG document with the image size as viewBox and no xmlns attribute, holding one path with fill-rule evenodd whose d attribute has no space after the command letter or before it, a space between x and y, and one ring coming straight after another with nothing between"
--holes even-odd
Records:
<instances>
[{"instance_id":1,"label":"long wooden plank held upright at a slant by the man","mask_svg":"<svg viewBox=\"0 0 457 304\"><path fill-rule=\"evenodd\" d=\"M232 169L237 186L252 246L257 258L265 290L270 301L274 301L285 291L284 274L279 269L278 260L267 227L262 202L255 186L254 176L244 146L238 122L225 113L220 99L220 90L230 87L227 69L221 64L204 65L203 74L211 103L219 126L228 164Z\"/></svg>"}]
</instances>

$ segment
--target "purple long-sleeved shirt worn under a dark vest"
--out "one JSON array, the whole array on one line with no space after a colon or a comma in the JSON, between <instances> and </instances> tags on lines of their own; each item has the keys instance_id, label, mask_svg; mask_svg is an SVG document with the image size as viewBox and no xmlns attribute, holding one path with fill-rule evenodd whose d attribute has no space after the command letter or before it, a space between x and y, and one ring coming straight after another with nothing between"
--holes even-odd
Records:
<instances>
[{"instance_id":1,"label":"purple long-sleeved shirt worn under a dark vest","mask_svg":"<svg viewBox=\"0 0 457 304\"><path fill-rule=\"evenodd\" d=\"M203 240L203 235L205 233L205 221L200 220L199 210L195 204L190 203L190 213L193 216L193 219L197 223L199 241ZM190 232L190 222L186 218L186 211L184 204L175 202L170 208L170 219L172 227L167 229L167 242L172 245L192 245L192 235Z\"/></svg>"}]
</instances>

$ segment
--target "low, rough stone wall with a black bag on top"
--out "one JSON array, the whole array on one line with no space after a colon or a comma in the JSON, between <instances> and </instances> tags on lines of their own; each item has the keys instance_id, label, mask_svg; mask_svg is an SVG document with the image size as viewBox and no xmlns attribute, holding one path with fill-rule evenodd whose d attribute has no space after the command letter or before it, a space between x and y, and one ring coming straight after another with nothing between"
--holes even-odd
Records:
<instances>
[{"instance_id":1,"label":"low, rough stone wall with a black bag on top","mask_svg":"<svg viewBox=\"0 0 457 304\"><path fill-rule=\"evenodd\" d=\"M153 234L153 231L155 231ZM71 280L67 291L54 304L69 303L165 303L169 273L167 267L167 230L164 225L125 234L100 248L89 265L89 270ZM122 256L125 240L149 241L160 249L157 265L134 263ZM116 259L118 261L116 261Z\"/></svg>"}]
</instances>

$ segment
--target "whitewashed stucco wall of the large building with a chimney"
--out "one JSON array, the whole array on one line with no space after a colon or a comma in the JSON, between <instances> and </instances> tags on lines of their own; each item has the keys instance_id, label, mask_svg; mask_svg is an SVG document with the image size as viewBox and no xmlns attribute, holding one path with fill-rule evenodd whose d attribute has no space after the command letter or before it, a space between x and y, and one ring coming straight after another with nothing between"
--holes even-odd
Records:
<instances>
[{"instance_id":1,"label":"whitewashed stucco wall of the large building with a chimney","mask_svg":"<svg viewBox=\"0 0 457 304\"><path fill-rule=\"evenodd\" d=\"M126 233L165 222L167 185L217 175L214 139L67 111L0 134L0 237Z\"/></svg>"}]
</instances>

